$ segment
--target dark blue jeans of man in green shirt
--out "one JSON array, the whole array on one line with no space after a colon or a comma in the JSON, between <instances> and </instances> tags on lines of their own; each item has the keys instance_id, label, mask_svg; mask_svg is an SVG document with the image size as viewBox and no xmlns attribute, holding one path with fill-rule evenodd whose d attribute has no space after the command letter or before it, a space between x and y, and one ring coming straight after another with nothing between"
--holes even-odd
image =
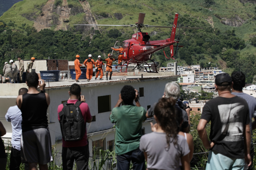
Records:
<instances>
[{"instance_id":1,"label":"dark blue jeans of man in green shirt","mask_svg":"<svg viewBox=\"0 0 256 170\"><path fill-rule=\"evenodd\" d=\"M117 155L117 170L129 170L130 163L132 161L133 170L144 170L145 169L145 157L144 153L140 149Z\"/></svg>"}]
</instances>

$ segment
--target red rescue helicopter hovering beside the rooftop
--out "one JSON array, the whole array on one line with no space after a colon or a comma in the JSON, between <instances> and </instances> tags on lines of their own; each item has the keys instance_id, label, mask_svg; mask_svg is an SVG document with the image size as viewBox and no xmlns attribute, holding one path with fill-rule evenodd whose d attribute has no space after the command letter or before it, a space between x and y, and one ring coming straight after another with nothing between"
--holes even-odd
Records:
<instances>
[{"instance_id":1,"label":"red rescue helicopter hovering beside the rooftop","mask_svg":"<svg viewBox=\"0 0 256 170\"><path fill-rule=\"evenodd\" d=\"M137 33L132 35L132 39L130 40L125 40L122 43L120 41L116 41L114 48L123 48L122 52L119 51L112 51L112 55L114 58L117 59L118 55L122 55L122 59L123 59L123 64L121 64L120 66L116 66L117 67L126 67L126 70L124 72L127 72L127 67L129 63L135 63L136 66L133 68L133 70L141 70L143 69L143 67L141 66L142 64L147 64L149 71L147 70L147 67L145 67L147 72L156 72L157 73L157 69L156 67L158 66L158 63L155 63L153 60L151 60L151 55L153 53L155 53L156 51L159 51L161 49L164 49L166 47L170 47L170 51L171 51L171 57L169 58L173 58L174 54L176 54L178 47L183 47L183 46L179 46L179 35L178 35L178 39L174 40L175 38L175 33L176 33L176 28L177 28L177 21L178 21L178 15L179 14L175 14L174 17L174 22L173 22L173 26L149 26L149 25L144 25L144 17L145 17L145 13L140 13L139 14L139 20L138 23L132 24L132 25L94 25L94 24L85 24L85 25L89 25L89 26L130 26L130 27L137 27ZM77 24L80 25L80 24ZM172 32L171 32L171 37L167 38L166 40L156 40L156 41L149 41L150 36L148 35L148 33L143 33L141 31L140 28L143 27L157 27L157 28L172 28ZM203 28L194 28L194 27L180 27L179 28L193 28L193 29L203 29ZM180 34L180 31L179 31ZM176 46L174 46L173 44L177 43ZM173 47L176 47L175 52L173 52ZM164 53L165 55L165 53ZM165 55L166 58L168 58ZM169 59L168 58L168 59ZM147 61L152 61L154 64L149 65L147 63ZM156 71L151 71L151 67L155 67ZM118 71L118 69L116 69Z\"/></svg>"}]
</instances>

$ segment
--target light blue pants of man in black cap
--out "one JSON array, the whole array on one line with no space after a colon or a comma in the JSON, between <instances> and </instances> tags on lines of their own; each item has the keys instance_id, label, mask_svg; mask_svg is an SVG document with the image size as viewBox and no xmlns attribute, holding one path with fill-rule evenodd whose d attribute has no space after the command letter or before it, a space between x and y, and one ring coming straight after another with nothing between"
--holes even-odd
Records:
<instances>
[{"instance_id":1,"label":"light blue pants of man in black cap","mask_svg":"<svg viewBox=\"0 0 256 170\"><path fill-rule=\"evenodd\" d=\"M216 151L210 151L205 170L243 170L244 159L229 158Z\"/></svg>"}]
</instances>

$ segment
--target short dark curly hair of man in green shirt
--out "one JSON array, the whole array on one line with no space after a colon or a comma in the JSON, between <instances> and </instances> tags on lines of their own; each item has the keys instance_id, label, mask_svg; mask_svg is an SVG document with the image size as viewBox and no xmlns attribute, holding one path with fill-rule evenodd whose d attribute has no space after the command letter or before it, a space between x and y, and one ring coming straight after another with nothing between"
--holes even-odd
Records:
<instances>
[{"instance_id":1,"label":"short dark curly hair of man in green shirt","mask_svg":"<svg viewBox=\"0 0 256 170\"><path fill-rule=\"evenodd\" d=\"M121 98L124 104L132 104L135 99L135 89L131 85L125 85L121 90Z\"/></svg>"}]
</instances>

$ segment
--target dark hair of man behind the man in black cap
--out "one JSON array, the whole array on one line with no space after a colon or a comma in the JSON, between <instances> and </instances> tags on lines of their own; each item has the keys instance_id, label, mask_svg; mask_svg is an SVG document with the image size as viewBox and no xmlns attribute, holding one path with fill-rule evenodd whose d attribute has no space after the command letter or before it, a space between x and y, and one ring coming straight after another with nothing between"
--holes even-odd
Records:
<instances>
[{"instance_id":1,"label":"dark hair of man behind the man in black cap","mask_svg":"<svg viewBox=\"0 0 256 170\"><path fill-rule=\"evenodd\" d=\"M237 91L243 91L243 87L245 86L245 75L243 72L234 71L231 74L231 79L233 81L233 89Z\"/></svg>"}]
</instances>

